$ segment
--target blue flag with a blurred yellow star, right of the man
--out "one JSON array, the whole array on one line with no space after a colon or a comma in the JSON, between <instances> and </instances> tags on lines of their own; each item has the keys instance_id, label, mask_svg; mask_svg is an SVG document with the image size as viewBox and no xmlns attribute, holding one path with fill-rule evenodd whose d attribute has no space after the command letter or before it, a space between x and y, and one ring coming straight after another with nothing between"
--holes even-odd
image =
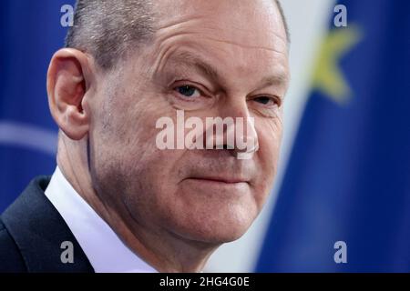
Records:
<instances>
[{"instance_id":1,"label":"blue flag with a blurred yellow star, right of the man","mask_svg":"<svg viewBox=\"0 0 410 291\"><path fill-rule=\"evenodd\" d=\"M260 272L410 271L410 2L339 4Z\"/></svg>"}]
</instances>

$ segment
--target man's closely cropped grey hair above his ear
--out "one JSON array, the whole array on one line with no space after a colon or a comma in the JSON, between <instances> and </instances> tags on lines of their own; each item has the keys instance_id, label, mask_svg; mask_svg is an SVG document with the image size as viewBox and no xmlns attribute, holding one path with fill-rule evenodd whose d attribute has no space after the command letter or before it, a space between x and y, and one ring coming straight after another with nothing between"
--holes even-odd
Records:
<instances>
[{"instance_id":1,"label":"man's closely cropped grey hair above his ear","mask_svg":"<svg viewBox=\"0 0 410 291\"><path fill-rule=\"evenodd\" d=\"M278 0L286 34L289 32ZM147 43L154 35L154 15L147 0L77 0L74 25L66 47L93 55L108 70L126 55L128 47Z\"/></svg>"}]
</instances>

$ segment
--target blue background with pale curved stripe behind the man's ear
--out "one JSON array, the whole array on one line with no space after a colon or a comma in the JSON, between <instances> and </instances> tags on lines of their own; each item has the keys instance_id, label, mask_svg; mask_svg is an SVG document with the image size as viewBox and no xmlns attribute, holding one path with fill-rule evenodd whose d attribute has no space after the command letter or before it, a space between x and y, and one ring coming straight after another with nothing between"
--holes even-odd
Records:
<instances>
[{"instance_id":1,"label":"blue background with pale curved stripe behind the man's ear","mask_svg":"<svg viewBox=\"0 0 410 291\"><path fill-rule=\"evenodd\" d=\"M73 4L72 0L1 3L0 213L33 177L50 175L56 166L57 127L48 110L46 72L67 34L61 8Z\"/></svg>"}]
</instances>

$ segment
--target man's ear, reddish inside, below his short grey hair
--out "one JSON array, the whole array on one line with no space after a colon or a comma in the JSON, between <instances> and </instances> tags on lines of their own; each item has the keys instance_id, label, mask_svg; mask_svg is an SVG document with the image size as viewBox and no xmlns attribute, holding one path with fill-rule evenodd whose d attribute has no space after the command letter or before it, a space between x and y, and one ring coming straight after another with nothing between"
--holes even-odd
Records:
<instances>
[{"instance_id":1,"label":"man's ear, reddish inside, below his short grey hair","mask_svg":"<svg viewBox=\"0 0 410 291\"><path fill-rule=\"evenodd\" d=\"M51 115L61 130L71 139L87 135L90 112L87 90L92 79L87 55L71 48L53 55L47 74L47 95Z\"/></svg>"}]
</instances>

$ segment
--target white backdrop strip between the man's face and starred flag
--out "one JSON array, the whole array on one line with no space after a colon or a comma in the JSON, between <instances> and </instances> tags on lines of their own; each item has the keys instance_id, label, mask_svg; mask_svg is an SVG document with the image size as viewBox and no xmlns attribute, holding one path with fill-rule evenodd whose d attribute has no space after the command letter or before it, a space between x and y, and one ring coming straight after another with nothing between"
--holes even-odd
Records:
<instances>
[{"instance_id":1,"label":"white backdrop strip between the man's face and starred flag","mask_svg":"<svg viewBox=\"0 0 410 291\"><path fill-rule=\"evenodd\" d=\"M293 138L309 94L315 52L333 15L333 0L282 0L291 31L291 85L284 102L284 135L278 176L272 195L250 230L241 239L221 246L211 256L206 272L251 272L256 264L275 204Z\"/></svg>"}]
</instances>

